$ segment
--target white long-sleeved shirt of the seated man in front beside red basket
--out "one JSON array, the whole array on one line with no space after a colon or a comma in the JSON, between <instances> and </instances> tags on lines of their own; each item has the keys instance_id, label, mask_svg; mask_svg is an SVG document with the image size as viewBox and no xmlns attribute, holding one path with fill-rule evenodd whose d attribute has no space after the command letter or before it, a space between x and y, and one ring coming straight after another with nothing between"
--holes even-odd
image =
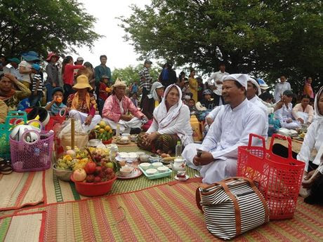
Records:
<instances>
[{"instance_id":1,"label":"white long-sleeved shirt of the seated man in front beside red basket","mask_svg":"<svg viewBox=\"0 0 323 242\"><path fill-rule=\"evenodd\" d=\"M234 109L231 109L230 105L223 107L211 124L201 146L202 150L211 152L214 159L237 159L238 147L248 145L250 133L267 139L268 116L259 107L247 99ZM253 146L260 144L260 140L253 139Z\"/></svg>"}]
</instances>

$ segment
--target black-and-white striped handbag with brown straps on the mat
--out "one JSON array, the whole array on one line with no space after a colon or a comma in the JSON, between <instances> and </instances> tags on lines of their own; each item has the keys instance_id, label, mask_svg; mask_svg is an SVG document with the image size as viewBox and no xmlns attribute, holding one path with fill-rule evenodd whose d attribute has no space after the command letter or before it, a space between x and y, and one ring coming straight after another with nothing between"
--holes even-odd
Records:
<instances>
[{"instance_id":1,"label":"black-and-white striped handbag with brown straps on the mat","mask_svg":"<svg viewBox=\"0 0 323 242\"><path fill-rule=\"evenodd\" d=\"M269 209L252 180L231 177L197 188L197 206L211 234L230 239L269 221Z\"/></svg>"}]
</instances>

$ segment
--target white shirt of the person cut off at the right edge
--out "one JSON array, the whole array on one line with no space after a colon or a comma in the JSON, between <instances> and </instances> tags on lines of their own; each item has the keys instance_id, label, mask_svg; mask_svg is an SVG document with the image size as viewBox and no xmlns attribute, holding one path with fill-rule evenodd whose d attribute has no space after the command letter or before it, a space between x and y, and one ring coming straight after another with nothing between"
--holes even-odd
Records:
<instances>
[{"instance_id":1,"label":"white shirt of the person cut off at the right edge","mask_svg":"<svg viewBox=\"0 0 323 242\"><path fill-rule=\"evenodd\" d=\"M308 133L304 137L304 141L301 147L301 152L297 155L299 161L305 162L305 170L308 170L308 161L310 160L310 154L312 149L316 149L319 152L320 147L323 144L323 126L317 120L314 120L308 127ZM319 163L316 163L319 165Z\"/></svg>"}]
</instances>

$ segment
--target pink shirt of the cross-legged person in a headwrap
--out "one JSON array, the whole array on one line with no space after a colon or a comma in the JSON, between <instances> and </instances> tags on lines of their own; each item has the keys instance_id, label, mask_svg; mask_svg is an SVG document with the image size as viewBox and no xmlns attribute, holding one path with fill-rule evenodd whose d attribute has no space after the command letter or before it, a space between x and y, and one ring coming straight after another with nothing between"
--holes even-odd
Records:
<instances>
[{"instance_id":1,"label":"pink shirt of the cross-legged person in a headwrap","mask_svg":"<svg viewBox=\"0 0 323 242\"><path fill-rule=\"evenodd\" d=\"M144 116L142 112L140 112L130 98L124 96L121 100L123 112L121 113L119 100L116 95L110 95L107 100L105 100L105 105L103 107L102 116L103 118L111 119L114 122L118 122L120 120L121 114L127 114L128 111L136 116L137 118L141 118Z\"/></svg>"}]
</instances>

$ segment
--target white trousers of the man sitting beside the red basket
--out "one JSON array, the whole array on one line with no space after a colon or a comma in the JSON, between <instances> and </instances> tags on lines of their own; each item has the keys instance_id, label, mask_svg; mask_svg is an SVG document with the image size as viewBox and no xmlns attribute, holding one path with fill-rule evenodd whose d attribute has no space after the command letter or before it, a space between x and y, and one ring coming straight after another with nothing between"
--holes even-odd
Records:
<instances>
[{"instance_id":1,"label":"white trousers of the man sitting beside the red basket","mask_svg":"<svg viewBox=\"0 0 323 242\"><path fill-rule=\"evenodd\" d=\"M201 147L201 144L188 144L183 150L182 156L186 160L187 166L199 170L199 173L203 177L203 183L212 184L237 175L237 159L235 158L216 160L206 166L195 166L193 159L199 147Z\"/></svg>"}]
</instances>

